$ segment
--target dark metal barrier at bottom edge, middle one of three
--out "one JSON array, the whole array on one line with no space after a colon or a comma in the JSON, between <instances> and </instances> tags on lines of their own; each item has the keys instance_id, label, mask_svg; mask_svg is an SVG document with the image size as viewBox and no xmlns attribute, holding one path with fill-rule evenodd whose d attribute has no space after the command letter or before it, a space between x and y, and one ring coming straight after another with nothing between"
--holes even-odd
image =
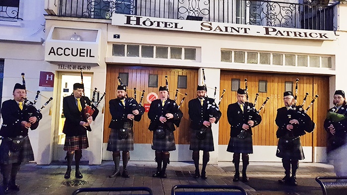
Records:
<instances>
[{"instance_id":1,"label":"dark metal barrier at bottom edge, middle one of three","mask_svg":"<svg viewBox=\"0 0 347 195\"><path fill-rule=\"evenodd\" d=\"M228 189L236 191L204 191L204 192L176 192L177 189ZM246 191L238 186L198 186L198 185L176 185L171 189L171 195L247 195Z\"/></svg>"}]
</instances>

